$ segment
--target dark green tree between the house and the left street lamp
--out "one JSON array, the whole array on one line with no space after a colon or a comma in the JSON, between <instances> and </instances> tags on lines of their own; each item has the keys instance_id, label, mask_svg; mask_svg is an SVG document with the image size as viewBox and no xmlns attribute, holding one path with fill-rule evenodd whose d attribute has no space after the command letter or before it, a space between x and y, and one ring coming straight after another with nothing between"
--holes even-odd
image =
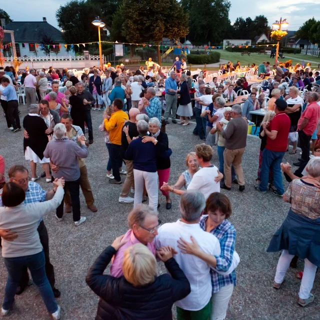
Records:
<instances>
[{"instance_id":1,"label":"dark green tree between the house and the left street lamp","mask_svg":"<svg viewBox=\"0 0 320 320\"><path fill-rule=\"evenodd\" d=\"M55 17L58 26L63 29L65 43L98 41L97 27L91 23L98 15L103 21L99 7L89 1L71 0L61 5L55 12ZM73 49L79 50L77 45Z\"/></svg>"}]
</instances>

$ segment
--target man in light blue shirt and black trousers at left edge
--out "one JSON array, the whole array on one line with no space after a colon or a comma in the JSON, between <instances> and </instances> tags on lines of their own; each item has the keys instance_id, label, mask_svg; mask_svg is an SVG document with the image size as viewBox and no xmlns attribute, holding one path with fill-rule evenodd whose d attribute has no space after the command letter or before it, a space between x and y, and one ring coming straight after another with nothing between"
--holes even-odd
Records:
<instances>
[{"instance_id":1,"label":"man in light blue shirt and black trousers at left edge","mask_svg":"<svg viewBox=\"0 0 320 320\"><path fill-rule=\"evenodd\" d=\"M13 85L9 84L10 81L8 78L2 78L2 86L4 86L4 90L0 91L0 95L4 95L7 97L7 112L8 112L8 120L11 122L13 129L12 132L16 132L21 130L20 118L19 118L19 110L18 110L18 98L15 92L15 88Z\"/></svg>"}]
</instances>

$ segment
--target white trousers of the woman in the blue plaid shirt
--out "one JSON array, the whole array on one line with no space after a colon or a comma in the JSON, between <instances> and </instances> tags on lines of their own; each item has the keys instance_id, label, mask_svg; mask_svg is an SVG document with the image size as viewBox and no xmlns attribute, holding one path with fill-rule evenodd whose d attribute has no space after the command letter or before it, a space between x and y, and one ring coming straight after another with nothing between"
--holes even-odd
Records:
<instances>
[{"instance_id":1,"label":"white trousers of the woman in the blue plaid shirt","mask_svg":"<svg viewBox=\"0 0 320 320\"><path fill-rule=\"evenodd\" d=\"M224 320L233 286L233 283L228 284L222 286L218 292L212 293L210 320Z\"/></svg>"}]
</instances>

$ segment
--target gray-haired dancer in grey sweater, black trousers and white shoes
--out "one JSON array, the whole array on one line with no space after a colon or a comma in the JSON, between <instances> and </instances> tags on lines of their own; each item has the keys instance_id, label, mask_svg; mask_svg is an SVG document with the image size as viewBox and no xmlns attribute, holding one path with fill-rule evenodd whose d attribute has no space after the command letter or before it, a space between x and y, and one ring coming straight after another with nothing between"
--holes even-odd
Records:
<instances>
[{"instance_id":1,"label":"gray-haired dancer in grey sweater, black trousers and white shoes","mask_svg":"<svg viewBox=\"0 0 320 320\"><path fill-rule=\"evenodd\" d=\"M85 145L84 136L77 137L81 146L78 146L74 141L69 140L63 123L56 124L53 128L53 133L55 135L55 140L48 142L43 152L43 156L50 158L50 161L55 166L59 167L57 172L52 170L52 175L54 178L64 178L64 188L67 187L70 191L73 221L74 224L78 226L86 220L86 217L81 216L80 212L80 169L77 158L86 158L88 156L88 147ZM62 216L63 200L56 208L55 213L55 217L58 221L62 221Z\"/></svg>"}]
</instances>

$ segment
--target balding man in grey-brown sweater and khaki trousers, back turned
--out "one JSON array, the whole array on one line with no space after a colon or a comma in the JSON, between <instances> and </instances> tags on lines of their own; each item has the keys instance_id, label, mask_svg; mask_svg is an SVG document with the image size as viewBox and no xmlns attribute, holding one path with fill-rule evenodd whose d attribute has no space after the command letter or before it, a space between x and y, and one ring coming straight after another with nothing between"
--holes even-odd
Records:
<instances>
[{"instance_id":1,"label":"balding man in grey-brown sweater and khaki trousers, back turned","mask_svg":"<svg viewBox=\"0 0 320 320\"><path fill-rule=\"evenodd\" d=\"M239 104L234 104L231 108L231 120L225 130L220 122L216 122L216 128L225 138L224 158L224 183L222 189L231 190L231 165L234 167L238 179L239 191L244 190L244 176L242 170L242 155L246 146L246 136L248 122L242 117L242 108Z\"/></svg>"}]
</instances>

